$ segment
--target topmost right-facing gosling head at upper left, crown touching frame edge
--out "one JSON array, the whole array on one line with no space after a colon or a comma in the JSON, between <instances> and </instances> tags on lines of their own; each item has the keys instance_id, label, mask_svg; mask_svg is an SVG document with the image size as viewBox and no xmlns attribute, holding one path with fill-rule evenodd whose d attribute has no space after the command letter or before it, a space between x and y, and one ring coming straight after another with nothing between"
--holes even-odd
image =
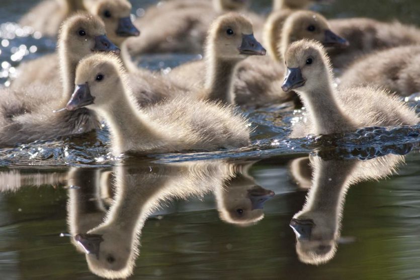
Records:
<instances>
[{"instance_id":1,"label":"topmost right-facing gosling head at upper left, crown touching frame edge","mask_svg":"<svg viewBox=\"0 0 420 280\"><path fill-rule=\"evenodd\" d=\"M127 37L140 35L140 31L131 21L131 4L127 0L99 0L88 9L102 19L107 35L118 46L121 46Z\"/></svg>"}]
</instances>

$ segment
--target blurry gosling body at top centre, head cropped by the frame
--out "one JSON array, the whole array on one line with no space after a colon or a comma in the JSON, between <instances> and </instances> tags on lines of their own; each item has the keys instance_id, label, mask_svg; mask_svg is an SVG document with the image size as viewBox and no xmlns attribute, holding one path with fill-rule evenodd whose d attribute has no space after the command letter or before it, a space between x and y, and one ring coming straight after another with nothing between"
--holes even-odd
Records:
<instances>
[{"instance_id":1,"label":"blurry gosling body at top centre, head cropped by the frame","mask_svg":"<svg viewBox=\"0 0 420 280\"><path fill-rule=\"evenodd\" d=\"M196 2L198 1L193 1ZM210 1L207 2L210 6ZM135 21L135 24L141 27L142 35L141 38L129 40L128 48L132 55L166 52L202 53L207 31L214 19L222 12L244 10L248 1L214 0L214 9L185 4L190 3L189 1L181 3L163 2L162 5L149 8L143 17ZM263 26L264 19L260 16L253 13L246 13L246 16L251 18L254 25Z\"/></svg>"}]
</instances>

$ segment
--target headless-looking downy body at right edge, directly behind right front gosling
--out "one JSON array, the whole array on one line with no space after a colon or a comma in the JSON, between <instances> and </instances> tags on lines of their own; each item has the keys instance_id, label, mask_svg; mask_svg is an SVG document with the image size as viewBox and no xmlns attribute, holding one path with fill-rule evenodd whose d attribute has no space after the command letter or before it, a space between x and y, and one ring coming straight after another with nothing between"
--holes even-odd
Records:
<instances>
[{"instance_id":1,"label":"headless-looking downy body at right edge, directly behind right front gosling","mask_svg":"<svg viewBox=\"0 0 420 280\"><path fill-rule=\"evenodd\" d=\"M420 46L391 48L366 55L340 77L340 86L371 85L408 97L420 92Z\"/></svg>"}]
</instances>

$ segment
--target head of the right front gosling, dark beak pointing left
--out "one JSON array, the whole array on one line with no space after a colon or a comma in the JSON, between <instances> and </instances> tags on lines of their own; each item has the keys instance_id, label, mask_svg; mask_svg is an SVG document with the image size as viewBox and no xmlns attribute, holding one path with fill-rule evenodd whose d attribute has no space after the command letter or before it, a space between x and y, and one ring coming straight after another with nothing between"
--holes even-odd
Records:
<instances>
[{"instance_id":1,"label":"head of the right front gosling, dark beak pointing left","mask_svg":"<svg viewBox=\"0 0 420 280\"><path fill-rule=\"evenodd\" d=\"M332 81L329 58L322 45L315 41L300 40L286 51L286 76L282 84L284 91L296 92L325 88Z\"/></svg>"}]
</instances>

